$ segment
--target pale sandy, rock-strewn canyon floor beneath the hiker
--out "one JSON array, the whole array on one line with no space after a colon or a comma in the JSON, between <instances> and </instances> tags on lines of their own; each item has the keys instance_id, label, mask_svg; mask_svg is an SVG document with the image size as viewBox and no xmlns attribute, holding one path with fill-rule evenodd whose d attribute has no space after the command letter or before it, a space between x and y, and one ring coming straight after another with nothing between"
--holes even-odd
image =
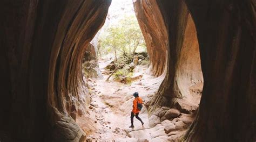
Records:
<instances>
[{"instance_id":1,"label":"pale sandy, rock-strewn canyon floor beneath the hiker","mask_svg":"<svg viewBox=\"0 0 256 142\"><path fill-rule=\"evenodd\" d=\"M99 62L103 70L107 63ZM79 117L77 122L87 133L87 141L177 141L192 123L192 113L178 112L176 118L160 120L160 111L167 114L170 108L161 108L159 113L154 113L150 118L145 106L139 116L145 123L143 126L134 118L134 128L129 128L130 114L132 110L132 94L138 91L144 101L156 94L162 77L146 75L146 68L137 66L134 75L142 74L142 79L133 81L132 84L119 82L106 82L107 75L103 79L89 80L91 87L91 103L87 115ZM197 89L191 89L196 92ZM180 104L191 109L191 102L181 100ZM186 108L185 108L186 109ZM176 113L168 111L168 113ZM163 116L161 116L163 117ZM149 123L149 119L150 122Z\"/></svg>"}]
</instances>

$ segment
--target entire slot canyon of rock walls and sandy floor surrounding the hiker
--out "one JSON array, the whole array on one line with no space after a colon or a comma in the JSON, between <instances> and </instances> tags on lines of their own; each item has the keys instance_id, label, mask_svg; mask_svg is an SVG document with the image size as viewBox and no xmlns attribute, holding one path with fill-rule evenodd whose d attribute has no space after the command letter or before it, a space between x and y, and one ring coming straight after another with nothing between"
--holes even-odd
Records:
<instances>
[{"instance_id":1,"label":"entire slot canyon of rock walls and sandy floor surrounding the hiker","mask_svg":"<svg viewBox=\"0 0 256 142\"><path fill-rule=\"evenodd\" d=\"M256 141L255 0L132 0L149 56L132 84L95 57L111 0L0 3L0 142Z\"/></svg>"}]
</instances>

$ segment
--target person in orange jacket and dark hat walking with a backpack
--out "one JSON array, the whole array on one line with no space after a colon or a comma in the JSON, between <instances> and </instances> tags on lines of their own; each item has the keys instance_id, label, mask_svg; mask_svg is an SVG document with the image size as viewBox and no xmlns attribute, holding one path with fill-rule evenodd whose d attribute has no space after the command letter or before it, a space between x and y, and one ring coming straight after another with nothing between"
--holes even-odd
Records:
<instances>
[{"instance_id":1,"label":"person in orange jacket and dark hat walking with a backpack","mask_svg":"<svg viewBox=\"0 0 256 142\"><path fill-rule=\"evenodd\" d=\"M142 98L139 97L139 93L135 92L133 93L133 96L135 97L133 100L133 105L132 105L132 112L131 112L131 126L129 127L134 127L133 126L133 118L134 116L140 120L140 122L142 123L142 125L144 124L144 122L142 121L141 118L139 118L139 111L142 110Z\"/></svg>"}]
</instances>

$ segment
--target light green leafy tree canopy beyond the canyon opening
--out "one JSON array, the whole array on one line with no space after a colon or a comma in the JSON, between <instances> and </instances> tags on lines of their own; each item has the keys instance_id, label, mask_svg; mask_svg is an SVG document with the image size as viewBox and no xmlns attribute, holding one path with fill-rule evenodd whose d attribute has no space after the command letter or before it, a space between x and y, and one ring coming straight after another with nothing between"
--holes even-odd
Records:
<instances>
[{"instance_id":1,"label":"light green leafy tree canopy beyond the canyon opening","mask_svg":"<svg viewBox=\"0 0 256 142\"><path fill-rule=\"evenodd\" d=\"M142 31L135 16L125 16L109 27L99 36L98 54L103 56L114 53L117 56L129 56L140 50L146 51Z\"/></svg>"}]
</instances>

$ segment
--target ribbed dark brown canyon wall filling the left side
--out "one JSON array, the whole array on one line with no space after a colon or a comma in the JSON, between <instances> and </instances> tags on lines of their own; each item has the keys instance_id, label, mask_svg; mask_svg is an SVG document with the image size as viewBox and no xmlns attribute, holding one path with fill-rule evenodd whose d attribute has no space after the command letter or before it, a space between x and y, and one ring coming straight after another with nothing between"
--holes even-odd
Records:
<instances>
[{"instance_id":1,"label":"ribbed dark brown canyon wall filling the left side","mask_svg":"<svg viewBox=\"0 0 256 142\"><path fill-rule=\"evenodd\" d=\"M89 101L82 59L110 3L1 1L1 131L14 141L84 139L74 121Z\"/></svg>"}]
</instances>

